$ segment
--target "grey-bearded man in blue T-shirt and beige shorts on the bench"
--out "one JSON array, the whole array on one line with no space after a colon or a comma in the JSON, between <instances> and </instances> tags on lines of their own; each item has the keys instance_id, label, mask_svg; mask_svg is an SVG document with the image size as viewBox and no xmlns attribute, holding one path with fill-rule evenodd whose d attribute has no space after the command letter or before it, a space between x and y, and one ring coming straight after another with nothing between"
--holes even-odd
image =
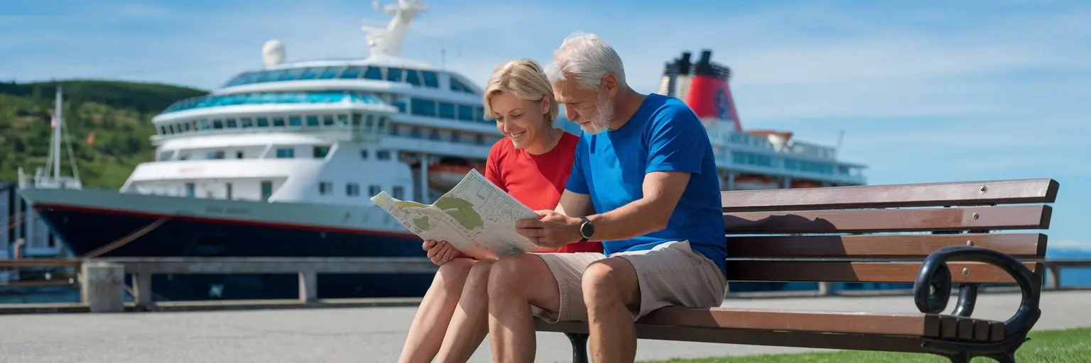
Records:
<instances>
[{"instance_id":1,"label":"grey-bearded man in blue T-shirt and beige shorts on the bench","mask_svg":"<svg viewBox=\"0 0 1091 363\"><path fill-rule=\"evenodd\" d=\"M642 95L621 58L577 32L553 55L550 81L584 134L555 210L520 220L542 246L603 241L604 254L524 254L497 261L489 331L497 362L532 362L532 316L587 320L596 362L632 362L634 320L663 306L723 302L720 186L708 135L682 101Z\"/></svg>"}]
</instances>

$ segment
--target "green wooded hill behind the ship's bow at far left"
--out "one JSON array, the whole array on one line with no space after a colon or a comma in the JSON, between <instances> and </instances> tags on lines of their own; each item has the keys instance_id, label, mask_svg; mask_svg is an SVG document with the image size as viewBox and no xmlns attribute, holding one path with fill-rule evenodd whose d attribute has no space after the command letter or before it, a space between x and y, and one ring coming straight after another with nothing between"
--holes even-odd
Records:
<instances>
[{"instance_id":1,"label":"green wooded hill behind the ship's bow at far left","mask_svg":"<svg viewBox=\"0 0 1091 363\"><path fill-rule=\"evenodd\" d=\"M152 117L170 104L207 92L115 81L0 83L0 181L46 166L57 84L63 87L68 144L85 187L118 189L133 168L154 158ZM94 141L88 144L88 135ZM61 171L71 174L65 145Z\"/></svg>"}]
</instances>

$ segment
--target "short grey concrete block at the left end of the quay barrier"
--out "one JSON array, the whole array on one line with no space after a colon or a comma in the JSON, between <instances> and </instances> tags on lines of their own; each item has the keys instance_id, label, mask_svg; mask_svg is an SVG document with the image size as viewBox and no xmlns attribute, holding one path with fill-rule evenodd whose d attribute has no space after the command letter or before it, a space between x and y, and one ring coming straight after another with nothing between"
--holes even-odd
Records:
<instances>
[{"instance_id":1,"label":"short grey concrete block at the left end of the quay barrier","mask_svg":"<svg viewBox=\"0 0 1091 363\"><path fill-rule=\"evenodd\" d=\"M92 313L125 311L125 268L107 262L85 262L80 268L80 295Z\"/></svg>"}]
</instances>

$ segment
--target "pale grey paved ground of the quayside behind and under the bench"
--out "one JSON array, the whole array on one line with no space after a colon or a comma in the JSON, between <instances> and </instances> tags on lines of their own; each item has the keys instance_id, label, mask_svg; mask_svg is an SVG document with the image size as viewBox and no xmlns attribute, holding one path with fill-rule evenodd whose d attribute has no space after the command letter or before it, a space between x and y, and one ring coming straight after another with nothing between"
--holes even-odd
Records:
<instances>
[{"instance_id":1,"label":"pale grey paved ground of the quayside behind and under the bench","mask_svg":"<svg viewBox=\"0 0 1091 363\"><path fill-rule=\"evenodd\" d=\"M1017 294L985 294L974 316L1003 319ZM1091 326L1091 292L1046 292L1039 329ZM910 297L729 300L724 306L915 312ZM949 304L954 307L954 301ZM1082 307L1081 307L1082 306ZM415 307L127 314L0 315L0 362L396 362ZM642 340L637 359L744 355L800 349ZM537 362L571 359L560 334L539 334ZM488 340L472 362L489 362Z\"/></svg>"}]
</instances>

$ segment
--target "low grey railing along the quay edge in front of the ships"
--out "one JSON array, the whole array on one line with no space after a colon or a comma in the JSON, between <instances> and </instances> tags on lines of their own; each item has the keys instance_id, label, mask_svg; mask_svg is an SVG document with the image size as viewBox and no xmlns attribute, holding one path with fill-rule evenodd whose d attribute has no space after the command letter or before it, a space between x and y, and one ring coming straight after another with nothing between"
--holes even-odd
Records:
<instances>
[{"instance_id":1,"label":"low grey railing along the quay edge in front of the ships","mask_svg":"<svg viewBox=\"0 0 1091 363\"><path fill-rule=\"evenodd\" d=\"M1091 268L1091 259L1046 259L1048 278L1043 290L1089 289L1091 286L1062 286L1062 270ZM422 257L98 257L87 259L19 259L0 261L0 271L19 268L59 268L52 283L41 281L9 281L5 287L40 285L79 285L80 305L92 312L125 310L125 292L132 295L135 310L154 310L153 275L182 274L296 274L299 276L299 305L315 304L317 274L432 274L436 270ZM72 269L64 273L63 269ZM132 275L132 286L125 283ZM1006 287L983 288L982 292L1007 291ZM730 291L730 286L729 286ZM727 298L823 297L823 295L896 295L909 290L838 290L822 282L815 290L798 291L730 291ZM177 302L171 302L177 303ZM194 302L197 303L197 302ZM220 302L230 304L230 302ZM252 303L252 302L251 302Z\"/></svg>"}]
</instances>

